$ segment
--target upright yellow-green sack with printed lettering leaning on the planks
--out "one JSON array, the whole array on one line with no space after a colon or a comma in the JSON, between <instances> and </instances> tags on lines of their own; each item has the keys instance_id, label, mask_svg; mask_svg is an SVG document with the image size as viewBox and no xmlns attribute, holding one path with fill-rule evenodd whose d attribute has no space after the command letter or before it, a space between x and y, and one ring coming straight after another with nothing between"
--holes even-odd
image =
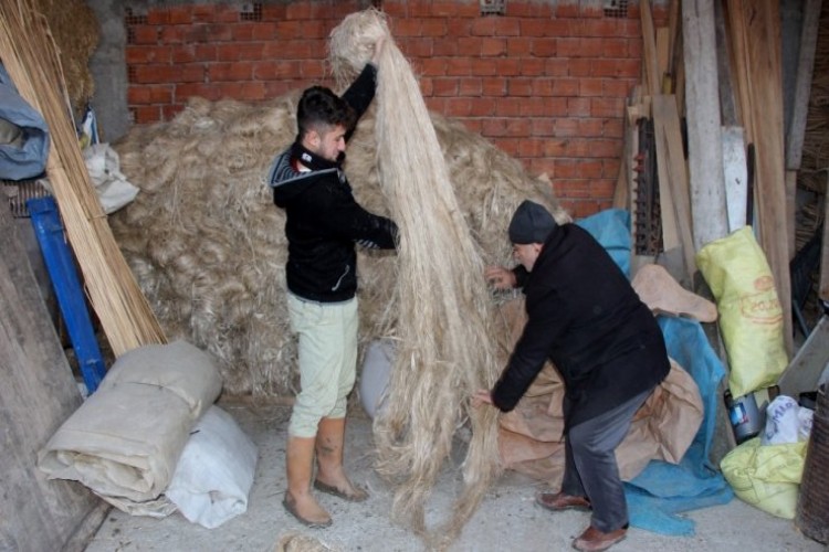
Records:
<instances>
[{"instance_id":1,"label":"upright yellow-green sack with printed lettering leaning on the planks","mask_svg":"<svg viewBox=\"0 0 829 552\"><path fill-rule=\"evenodd\" d=\"M696 265L716 298L732 395L769 388L788 365L783 308L751 226L706 244Z\"/></svg>"}]
</instances>

